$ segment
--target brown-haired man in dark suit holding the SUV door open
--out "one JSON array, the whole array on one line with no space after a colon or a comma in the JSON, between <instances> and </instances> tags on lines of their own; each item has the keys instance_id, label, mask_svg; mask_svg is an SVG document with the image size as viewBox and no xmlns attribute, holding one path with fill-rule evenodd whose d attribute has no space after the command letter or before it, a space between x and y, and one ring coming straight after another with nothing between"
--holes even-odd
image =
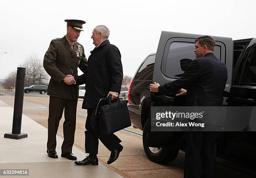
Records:
<instances>
[{"instance_id":1,"label":"brown-haired man in dark suit holding the SUV door open","mask_svg":"<svg viewBox=\"0 0 256 178\"><path fill-rule=\"evenodd\" d=\"M188 106L220 106L228 78L227 68L212 53L215 47L212 37L201 36L195 41L197 59L190 63L181 78L161 86L155 82L150 90L159 93L180 90L177 95L187 94ZM185 178L213 177L218 135L218 132L187 133Z\"/></svg>"}]
</instances>

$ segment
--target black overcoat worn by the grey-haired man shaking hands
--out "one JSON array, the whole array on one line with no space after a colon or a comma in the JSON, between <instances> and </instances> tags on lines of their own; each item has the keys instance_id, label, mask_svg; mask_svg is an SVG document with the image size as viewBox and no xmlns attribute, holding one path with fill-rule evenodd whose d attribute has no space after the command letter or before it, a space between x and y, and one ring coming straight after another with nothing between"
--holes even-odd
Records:
<instances>
[{"instance_id":1,"label":"black overcoat worn by the grey-haired man shaking hands","mask_svg":"<svg viewBox=\"0 0 256 178\"><path fill-rule=\"evenodd\" d=\"M123 66L121 54L109 40L102 42L91 51L88 58L88 71L75 77L77 84L85 85L85 95L82 108L97 108L101 98L106 98L108 92L120 93L123 81Z\"/></svg>"}]
</instances>

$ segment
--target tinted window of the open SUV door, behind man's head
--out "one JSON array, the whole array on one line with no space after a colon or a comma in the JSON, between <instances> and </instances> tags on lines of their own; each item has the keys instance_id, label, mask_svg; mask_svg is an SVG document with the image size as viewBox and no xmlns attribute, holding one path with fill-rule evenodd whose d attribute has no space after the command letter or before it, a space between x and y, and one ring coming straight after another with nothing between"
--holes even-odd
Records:
<instances>
[{"instance_id":1,"label":"tinted window of the open SUV door, behind man's head","mask_svg":"<svg viewBox=\"0 0 256 178\"><path fill-rule=\"evenodd\" d=\"M168 76L180 77L195 57L195 43L174 42L171 43L163 66L164 73ZM215 46L215 56L220 59L220 47Z\"/></svg>"}]
</instances>

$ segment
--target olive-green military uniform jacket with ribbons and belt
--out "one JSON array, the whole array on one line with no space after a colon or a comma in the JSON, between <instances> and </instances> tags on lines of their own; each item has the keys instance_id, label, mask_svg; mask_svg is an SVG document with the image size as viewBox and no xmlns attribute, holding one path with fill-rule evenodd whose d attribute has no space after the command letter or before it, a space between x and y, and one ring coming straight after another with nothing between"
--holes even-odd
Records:
<instances>
[{"instance_id":1,"label":"olive-green military uniform jacket with ribbons and belt","mask_svg":"<svg viewBox=\"0 0 256 178\"><path fill-rule=\"evenodd\" d=\"M79 86L67 85L63 79L68 74L77 76L77 68L87 73L88 63L84 54L84 47L74 42L71 50L66 36L51 40L44 55L44 69L51 76L47 94L63 99L77 99Z\"/></svg>"}]
</instances>

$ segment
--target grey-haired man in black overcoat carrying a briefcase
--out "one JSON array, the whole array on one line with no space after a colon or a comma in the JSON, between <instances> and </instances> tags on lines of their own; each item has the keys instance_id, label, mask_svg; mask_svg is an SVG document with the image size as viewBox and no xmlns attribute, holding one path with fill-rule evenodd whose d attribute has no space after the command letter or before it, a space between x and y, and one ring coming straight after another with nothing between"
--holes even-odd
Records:
<instances>
[{"instance_id":1,"label":"grey-haired man in black overcoat carrying a briefcase","mask_svg":"<svg viewBox=\"0 0 256 178\"><path fill-rule=\"evenodd\" d=\"M110 44L108 37L109 30L105 25L95 27L91 38L96 47L88 58L87 75L74 77L78 85L86 83L82 108L87 109L85 152L89 153L84 160L76 161L77 165L98 165L99 139L111 151L108 164L113 163L123 150L121 140L115 134L101 133L97 123L99 116L95 115L97 103L101 98L109 95L112 95L112 99L118 98L123 81L120 51L115 45Z\"/></svg>"}]
</instances>

